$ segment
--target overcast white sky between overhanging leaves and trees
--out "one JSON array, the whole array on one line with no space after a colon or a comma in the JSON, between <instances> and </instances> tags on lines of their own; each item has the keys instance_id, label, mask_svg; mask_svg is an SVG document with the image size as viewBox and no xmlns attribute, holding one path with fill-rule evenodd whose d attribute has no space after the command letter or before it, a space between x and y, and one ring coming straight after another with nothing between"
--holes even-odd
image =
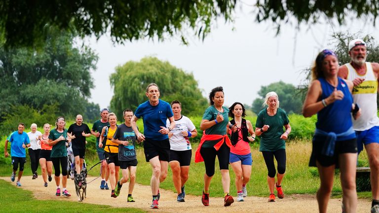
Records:
<instances>
[{"instance_id":1,"label":"overcast white sky between overhanging leaves and trees","mask_svg":"<svg viewBox=\"0 0 379 213\"><path fill-rule=\"evenodd\" d=\"M88 39L86 43L99 56L97 70L92 73L95 88L91 90L90 101L108 107L113 96L109 76L114 68L131 60L155 56L192 72L205 97L212 88L223 86L226 105L236 101L251 105L261 86L279 80L299 85L304 78L300 71L312 64L319 51L331 48L328 44L333 31L361 31L376 39L379 35L372 22L353 21L342 27L302 25L300 31L282 25L280 35L275 36L276 29L271 23L256 23L250 12L252 8L244 6L243 10L237 9L232 24L220 20L204 41L188 36L188 46L178 37L124 45L114 44L109 36Z\"/></svg>"}]
</instances>

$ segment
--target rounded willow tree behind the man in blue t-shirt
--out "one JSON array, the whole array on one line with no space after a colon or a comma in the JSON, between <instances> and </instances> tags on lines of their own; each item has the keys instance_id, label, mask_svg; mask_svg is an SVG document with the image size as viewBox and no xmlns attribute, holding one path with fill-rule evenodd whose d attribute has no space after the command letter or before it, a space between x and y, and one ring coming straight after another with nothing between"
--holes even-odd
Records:
<instances>
[{"instance_id":1,"label":"rounded willow tree behind the man in blue t-shirt","mask_svg":"<svg viewBox=\"0 0 379 213\"><path fill-rule=\"evenodd\" d=\"M146 57L139 62L129 61L116 67L110 82L114 88L111 108L120 117L124 109L134 111L148 100L146 87L150 83L158 85L160 99L168 103L179 100L185 115L202 114L207 107L207 100L201 95L192 73L186 73L154 57Z\"/></svg>"}]
</instances>

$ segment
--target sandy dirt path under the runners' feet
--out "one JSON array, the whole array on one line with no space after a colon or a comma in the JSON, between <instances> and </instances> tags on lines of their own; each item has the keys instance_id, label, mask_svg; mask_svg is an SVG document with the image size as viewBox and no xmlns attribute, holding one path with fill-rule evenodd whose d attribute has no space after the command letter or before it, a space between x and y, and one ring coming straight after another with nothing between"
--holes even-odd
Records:
<instances>
[{"instance_id":1,"label":"sandy dirt path under the runners' feet","mask_svg":"<svg viewBox=\"0 0 379 213\"><path fill-rule=\"evenodd\" d=\"M87 182L95 177L88 177ZM6 181L10 181L9 177L1 177ZM16 184L16 182L11 182ZM109 183L109 182L108 182ZM71 193L71 197L56 197L56 186L54 179L48 182L48 187L43 186L42 177L32 179L31 176L21 178L23 189L33 191L34 197L39 200L65 200L77 202L75 193L74 181L69 179L67 183L67 190ZM159 209L151 210L152 195L150 186L136 184L133 191L135 203L127 203L126 198L128 194L128 183L123 184L120 196L117 198L111 197L111 190L101 190L99 188L100 178L94 180L87 185L87 198L83 203L110 205L113 207L134 207L147 212L161 212L161 213L317 213L318 206L315 195L289 195L284 199L276 198L275 202L268 203L267 198L248 196L244 202L235 202L229 206L224 207L223 198L210 198L210 205L205 207L201 203L200 196L186 195L186 202L176 202L177 194L160 189ZM285 189L284 189L285 190ZM284 191L285 192L285 191ZM212 196L212 194L211 194ZM358 200L358 213L369 213L371 202L369 200ZM328 206L328 212L340 213L341 212L341 199L331 199Z\"/></svg>"}]
</instances>

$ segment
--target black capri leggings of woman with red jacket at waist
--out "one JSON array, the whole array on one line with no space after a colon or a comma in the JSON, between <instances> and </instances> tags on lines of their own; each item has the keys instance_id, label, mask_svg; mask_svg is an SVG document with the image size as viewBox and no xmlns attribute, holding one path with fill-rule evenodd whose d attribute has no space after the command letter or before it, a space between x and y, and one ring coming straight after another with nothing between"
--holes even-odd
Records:
<instances>
[{"instance_id":1,"label":"black capri leggings of woman with red jacket at waist","mask_svg":"<svg viewBox=\"0 0 379 213\"><path fill-rule=\"evenodd\" d=\"M218 151L214 147L200 149L200 154L204 159L205 173L208 177L212 177L215 174L215 160L216 155L219 158L220 170L229 169L229 153L230 148L224 142Z\"/></svg>"}]
</instances>

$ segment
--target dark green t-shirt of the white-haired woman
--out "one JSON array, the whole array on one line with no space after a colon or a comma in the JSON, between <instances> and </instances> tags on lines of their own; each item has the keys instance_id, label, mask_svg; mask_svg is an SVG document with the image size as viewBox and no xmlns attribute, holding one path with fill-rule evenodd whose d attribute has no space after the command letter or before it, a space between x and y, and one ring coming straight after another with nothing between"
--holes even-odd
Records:
<instances>
[{"instance_id":1,"label":"dark green t-shirt of the white-haired woman","mask_svg":"<svg viewBox=\"0 0 379 213\"><path fill-rule=\"evenodd\" d=\"M261 135L261 144L259 151L276 151L285 149L286 143L280 139L284 133L283 126L289 124L286 112L278 108L274 116L267 114L267 108L259 112L257 117L256 127L262 128L264 125L270 126L268 130Z\"/></svg>"}]
</instances>

